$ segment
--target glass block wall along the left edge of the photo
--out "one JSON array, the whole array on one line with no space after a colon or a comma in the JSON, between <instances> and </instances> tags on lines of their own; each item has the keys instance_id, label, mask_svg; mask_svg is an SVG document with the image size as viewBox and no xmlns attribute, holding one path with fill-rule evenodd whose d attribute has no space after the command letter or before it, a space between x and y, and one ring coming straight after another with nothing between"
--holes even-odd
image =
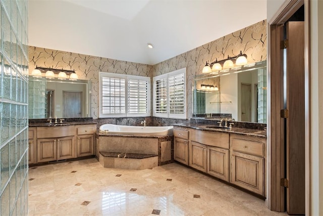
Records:
<instances>
[{"instance_id":1,"label":"glass block wall along the left edge of the photo","mask_svg":"<svg viewBox=\"0 0 323 216\"><path fill-rule=\"evenodd\" d=\"M0 1L0 215L28 214L28 1Z\"/></svg>"}]
</instances>

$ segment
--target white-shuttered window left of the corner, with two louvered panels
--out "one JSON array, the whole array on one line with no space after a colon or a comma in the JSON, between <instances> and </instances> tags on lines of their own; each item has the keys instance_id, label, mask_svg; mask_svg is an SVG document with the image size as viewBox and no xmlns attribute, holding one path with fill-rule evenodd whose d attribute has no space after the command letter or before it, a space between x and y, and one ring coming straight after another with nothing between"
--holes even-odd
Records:
<instances>
[{"instance_id":1,"label":"white-shuttered window left of the corner, with two louvered panels","mask_svg":"<svg viewBox=\"0 0 323 216\"><path fill-rule=\"evenodd\" d=\"M99 73L99 117L150 115L150 77Z\"/></svg>"}]
</instances>

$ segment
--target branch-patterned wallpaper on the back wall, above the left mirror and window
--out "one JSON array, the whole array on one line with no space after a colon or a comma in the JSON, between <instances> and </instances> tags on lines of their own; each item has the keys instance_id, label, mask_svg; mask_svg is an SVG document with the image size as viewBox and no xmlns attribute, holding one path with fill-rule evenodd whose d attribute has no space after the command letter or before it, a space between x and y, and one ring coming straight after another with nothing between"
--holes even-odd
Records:
<instances>
[{"instance_id":1,"label":"branch-patterned wallpaper on the back wall, above the left mirror and window","mask_svg":"<svg viewBox=\"0 0 323 216\"><path fill-rule=\"evenodd\" d=\"M151 65L125 62L64 51L29 47L29 74L36 67L75 70L79 79L91 80L91 117L98 117L98 72L152 76Z\"/></svg>"}]
</instances>

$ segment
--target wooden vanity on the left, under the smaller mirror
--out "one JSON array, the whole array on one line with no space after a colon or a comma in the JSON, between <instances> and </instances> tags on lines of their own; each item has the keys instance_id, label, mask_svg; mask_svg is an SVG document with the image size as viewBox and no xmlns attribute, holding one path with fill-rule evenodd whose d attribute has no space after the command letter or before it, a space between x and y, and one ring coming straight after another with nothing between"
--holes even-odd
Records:
<instances>
[{"instance_id":1,"label":"wooden vanity on the left, under the smaller mirror","mask_svg":"<svg viewBox=\"0 0 323 216\"><path fill-rule=\"evenodd\" d=\"M93 121L29 123L29 164L94 155Z\"/></svg>"}]
</instances>

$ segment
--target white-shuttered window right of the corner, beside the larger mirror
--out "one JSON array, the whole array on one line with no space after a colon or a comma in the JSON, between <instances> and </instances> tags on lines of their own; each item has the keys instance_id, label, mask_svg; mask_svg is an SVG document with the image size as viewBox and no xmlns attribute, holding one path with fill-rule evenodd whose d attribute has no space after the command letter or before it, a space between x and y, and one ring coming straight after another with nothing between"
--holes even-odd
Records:
<instances>
[{"instance_id":1,"label":"white-shuttered window right of the corner, beside the larger mirror","mask_svg":"<svg viewBox=\"0 0 323 216\"><path fill-rule=\"evenodd\" d=\"M186 119L186 68L153 77L153 116Z\"/></svg>"}]
</instances>

